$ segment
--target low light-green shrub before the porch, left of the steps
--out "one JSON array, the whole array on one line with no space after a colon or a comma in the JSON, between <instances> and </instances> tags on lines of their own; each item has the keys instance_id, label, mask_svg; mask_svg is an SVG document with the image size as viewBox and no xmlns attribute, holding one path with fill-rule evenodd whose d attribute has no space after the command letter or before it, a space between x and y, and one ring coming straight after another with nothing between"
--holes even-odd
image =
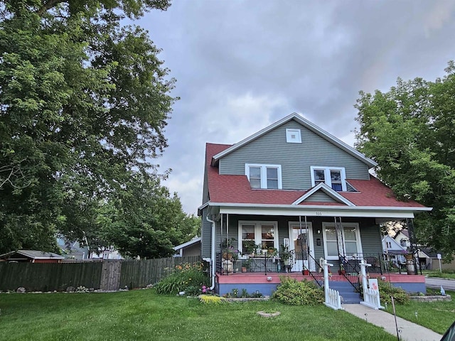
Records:
<instances>
[{"instance_id":1,"label":"low light-green shrub before the porch, left of the steps","mask_svg":"<svg viewBox=\"0 0 455 341\"><path fill-rule=\"evenodd\" d=\"M290 305L316 305L323 303L324 293L311 281L297 281L295 278L280 276L281 285L272 294L272 300Z\"/></svg>"}]
</instances>

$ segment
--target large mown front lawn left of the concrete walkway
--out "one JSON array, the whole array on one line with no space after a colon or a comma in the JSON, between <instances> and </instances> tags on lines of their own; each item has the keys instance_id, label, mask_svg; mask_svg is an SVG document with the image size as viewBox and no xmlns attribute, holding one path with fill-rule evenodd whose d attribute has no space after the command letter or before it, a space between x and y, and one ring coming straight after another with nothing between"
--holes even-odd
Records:
<instances>
[{"instance_id":1,"label":"large mown front lawn left of the concrete walkway","mask_svg":"<svg viewBox=\"0 0 455 341\"><path fill-rule=\"evenodd\" d=\"M202 304L196 298L120 293L0 294L1 340L395 340L324 305ZM280 311L263 318L257 311Z\"/></svg>"}]
</instances>

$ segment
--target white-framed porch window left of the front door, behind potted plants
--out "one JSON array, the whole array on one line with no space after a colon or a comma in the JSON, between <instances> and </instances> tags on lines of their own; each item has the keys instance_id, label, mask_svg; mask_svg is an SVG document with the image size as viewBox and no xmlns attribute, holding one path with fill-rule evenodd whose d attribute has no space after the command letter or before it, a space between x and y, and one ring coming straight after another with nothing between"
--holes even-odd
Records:
<instances>
[{"instance_id":1,"label":"white-framed porch window left of the front door, behind potted plants","mask_svg":"<svg viewBox=\"0 0 455 341\"><path fill-rule=\"evenodd\" d=\"M277 222L239 222L239 251L251 252L252 245L260 244L262 249L278 249ZM255 249L255 248L254 248ZM253 249L253 250L254 250Z\"/></svg>"}]
</instances>

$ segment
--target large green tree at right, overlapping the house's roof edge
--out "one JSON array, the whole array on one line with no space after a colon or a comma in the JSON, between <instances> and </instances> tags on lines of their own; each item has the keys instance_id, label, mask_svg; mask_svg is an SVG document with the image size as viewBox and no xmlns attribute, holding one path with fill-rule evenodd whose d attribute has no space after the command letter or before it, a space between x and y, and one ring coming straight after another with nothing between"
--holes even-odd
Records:
<instances>
[{"instance_id":1,"label":"large green tree at right, overlapping the house's roof edge","mask_svg":"<svg viewBox=\"0 0 455 341\"><path fill-rule=\"evenodd\" d=\"M357 146L400 200L432 212L415 220L420 242L455 251L455 65L437 80L397 80L388 92L360 92Z\"/></svg>"}]
</instances>

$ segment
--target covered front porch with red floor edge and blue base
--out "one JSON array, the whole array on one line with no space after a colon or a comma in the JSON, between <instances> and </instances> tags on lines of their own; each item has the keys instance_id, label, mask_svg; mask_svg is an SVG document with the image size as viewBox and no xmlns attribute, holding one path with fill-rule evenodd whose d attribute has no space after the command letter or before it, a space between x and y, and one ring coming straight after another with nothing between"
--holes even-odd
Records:
<instances>
[{"instance_id":1,"label":"covered front porch with red floor edge and blue base","mask_svg":"<svg viewBox=\"0 0 455 341\"><path fill-rule=\"evenodd\" d=\"M406 291L425 292L423 276L395 274L400 269L390 268L382 250L380 224L387 220L412 224L413 213L349 208L322 210L319 206L321 211L310 212L309 207L221 207L212 224L215 291L225 295L245 289L269 295L279 285L280 276L322 283L322 262L326 260L333 264L331 281L358 287L359 264L364 261L370 264L370 278L385 278Z\"/></svg>"}]
</instances>

